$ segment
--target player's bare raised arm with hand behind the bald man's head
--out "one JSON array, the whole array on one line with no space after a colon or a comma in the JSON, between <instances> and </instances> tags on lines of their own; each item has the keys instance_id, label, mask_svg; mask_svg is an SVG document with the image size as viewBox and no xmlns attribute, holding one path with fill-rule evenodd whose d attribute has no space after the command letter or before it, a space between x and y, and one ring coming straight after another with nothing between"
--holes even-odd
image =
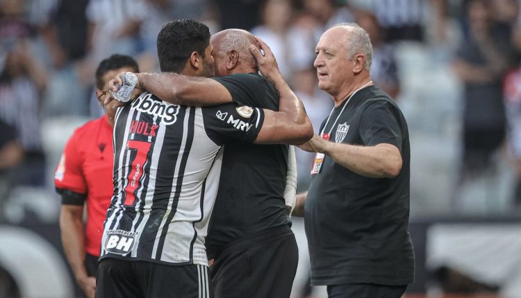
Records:
<instances>
[{"instance_id":1,"label":"player's bare raised arm with hand behind the bald man's head","mask_svg":"<svg viewBox=\"0 0 521 298\"><path fill-rule=\"evenodd\" d=\"M265 119L255 143L287 143L300 145L313 137L313 126L308 119L306 109L293 93L277 67L275 57L267 44L256 37L265 55L256 46L249 46L251 54L257 60L258 67L279 91L279 111L264 109Z\"/></svg>"}]
</instances>

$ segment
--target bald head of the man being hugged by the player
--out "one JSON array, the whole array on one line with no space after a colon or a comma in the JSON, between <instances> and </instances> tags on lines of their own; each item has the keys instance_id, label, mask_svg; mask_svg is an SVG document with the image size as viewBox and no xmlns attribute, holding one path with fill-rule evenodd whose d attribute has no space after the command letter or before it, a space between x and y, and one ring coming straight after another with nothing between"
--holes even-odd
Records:
<instances>
[{"instance_id":1,"label":"bald head of the man being hugged by the player","mask_svg":"<svg viewBox=\"0 0 521 298\"><path fill-rule=\"evenodd\" d=\"M212 35L210 42L213 46L217 76L258 70L254 56L249 51L249 45L257 44L257 41L247 30L222 30Z\"/></svg>"}]
</instances>

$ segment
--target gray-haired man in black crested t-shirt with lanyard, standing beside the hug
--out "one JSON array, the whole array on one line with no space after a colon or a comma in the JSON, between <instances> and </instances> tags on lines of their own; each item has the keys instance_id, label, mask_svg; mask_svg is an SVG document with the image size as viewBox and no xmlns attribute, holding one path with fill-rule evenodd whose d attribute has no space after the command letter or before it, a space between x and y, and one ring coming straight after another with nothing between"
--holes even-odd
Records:
<instances>
[{"instance_id":1,"label":"gray-haired man in black crested t-shirt with lanyard, standing beside the hug","mask_svg":"<svg viewBox=\"0 0 521 298\"><path fill-rule=\"evenodd\" d=\"M329 297L398 298L414 277L408 234L410 146L395 102L370 78L370 38L357 24L326 30L316 46L318 87L335 106L320 135L308 193L297 196L311 284Z\"/></svg>"}]
</instances>

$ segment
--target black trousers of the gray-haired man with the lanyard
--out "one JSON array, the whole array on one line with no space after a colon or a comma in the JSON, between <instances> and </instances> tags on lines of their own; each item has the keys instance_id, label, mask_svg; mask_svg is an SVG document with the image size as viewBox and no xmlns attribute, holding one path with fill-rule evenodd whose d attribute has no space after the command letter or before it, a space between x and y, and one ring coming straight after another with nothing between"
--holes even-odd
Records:
<instances>
[{"instance_id":1,"label":"black trousers of the gray-haired man with the lanyard","mask_svg":"<svg viewBox=\"0 0 521 298\"><path fill-rule=\"evenodd\" d=\"M327 286L329 298L400 298L407 285L383 286L374 283L346 283Z\"/></svg>"}]
</instances>

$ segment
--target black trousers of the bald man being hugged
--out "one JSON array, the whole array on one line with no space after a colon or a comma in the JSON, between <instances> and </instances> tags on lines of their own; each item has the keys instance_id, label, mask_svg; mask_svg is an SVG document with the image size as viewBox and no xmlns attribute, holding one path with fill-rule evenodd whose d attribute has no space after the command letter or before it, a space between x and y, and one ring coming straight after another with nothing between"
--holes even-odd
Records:
<instances>
[{"instance_id":1,"label":"black trousers of the bald man being hugged","mask_svg":"<svg viewBox=\"0 0 521 298\"><path fill-rule=\"evenodd\" d=\"M210 267L216 298L288 298L299 262L295 235L284 225L228 245Z\"/></svg>"}]
</instances>

